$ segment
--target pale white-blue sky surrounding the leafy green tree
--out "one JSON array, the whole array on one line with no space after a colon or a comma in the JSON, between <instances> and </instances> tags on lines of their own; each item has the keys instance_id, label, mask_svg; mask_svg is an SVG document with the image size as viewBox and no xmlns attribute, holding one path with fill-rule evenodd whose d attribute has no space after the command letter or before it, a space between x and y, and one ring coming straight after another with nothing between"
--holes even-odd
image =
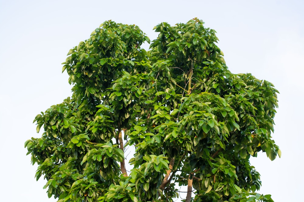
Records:
<instances>
[{"instance_id":1,"label":"pale white-blue sky surrounding the leafy green tree","mask_svg":"<svg viewBox=\"0 0 304 202\"><path fill-rule=\"evenodd\" d=\"M252 73L280 91L272 135L282 158L258 154L259 193L299 201L303 189L302 101L304 2L299 1L17 1L0 0L1 201L54 202L34 178L24 142L36 134L36 114L71 95L61 63L105 20L138 25L151 40L160 22L198 17L217 31L233 73Z\"/></svg>"}]
</instances>

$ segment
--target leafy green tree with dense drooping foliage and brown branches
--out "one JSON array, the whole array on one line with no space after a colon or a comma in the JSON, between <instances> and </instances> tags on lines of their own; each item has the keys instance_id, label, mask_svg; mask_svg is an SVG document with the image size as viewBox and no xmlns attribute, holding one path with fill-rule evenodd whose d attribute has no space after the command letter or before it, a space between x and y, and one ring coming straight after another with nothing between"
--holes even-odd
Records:
<instances>
[{"instance_id":1,"label":"leafy green tree with dense drooping foliage and brown branches","mask_svg":"<svg viewBox=\"0 0 304 202\"><path fill-rule=\"evenodd\" d=\"M281 151L271 139L278 92L232 74L215 31L194 18L161 23L150 39L106 21L63 63L73 95L37 115L26 141L37 180L63 201L273 201L250 156ZM123 143L123 138L126 144ZM128 173L124 149L135 146Z\"/></svg>"}]
</instances>

